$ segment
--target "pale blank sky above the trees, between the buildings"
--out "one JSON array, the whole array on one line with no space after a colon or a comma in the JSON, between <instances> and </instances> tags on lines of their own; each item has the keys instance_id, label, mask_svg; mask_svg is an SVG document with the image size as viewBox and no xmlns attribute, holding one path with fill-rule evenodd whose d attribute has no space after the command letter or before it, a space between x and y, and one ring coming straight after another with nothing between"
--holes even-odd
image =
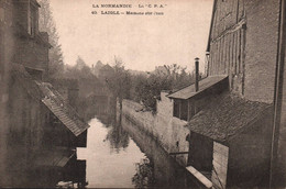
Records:
<instances>
[{"instance_id":1,"label":"pale blank sky above the trees, between the buildings","mask_svg":"<svg viewBox=\"0 0 286 189\"><path fill-rule=\"evenodd\" d=\"M92 8L92 4L132 4L130 11L164 12L164 15L110 15L101 11L128 8ZM178 64L194 68L195 57L205 69L212 0L51 0L64 62L75 65L80 56L87 65L111 64L119 57L125 67L154 70ZM139 4L163 4L141 8ZM98 14L91 14L97 11Z\"/></svg>"}]
</instances>

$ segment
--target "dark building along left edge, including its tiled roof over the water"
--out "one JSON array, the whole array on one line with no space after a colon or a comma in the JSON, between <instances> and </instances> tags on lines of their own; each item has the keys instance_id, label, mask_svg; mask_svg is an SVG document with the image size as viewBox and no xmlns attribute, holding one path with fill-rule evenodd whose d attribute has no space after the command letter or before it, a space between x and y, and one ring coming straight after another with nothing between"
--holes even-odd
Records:
<instances>
[{"instance_id":1,"label":"dark building along left edge, including its tiled roof over the water","mask_svg":"<svg viewBox=\"0 0 286 189\"><path fill-rule=\"evenodd\" d=\"M46 82L52 46L38 9L0 0L0 187L33 187L31 173L65 167L86 146L89 125Z\"/></svg>"}]
</instances>

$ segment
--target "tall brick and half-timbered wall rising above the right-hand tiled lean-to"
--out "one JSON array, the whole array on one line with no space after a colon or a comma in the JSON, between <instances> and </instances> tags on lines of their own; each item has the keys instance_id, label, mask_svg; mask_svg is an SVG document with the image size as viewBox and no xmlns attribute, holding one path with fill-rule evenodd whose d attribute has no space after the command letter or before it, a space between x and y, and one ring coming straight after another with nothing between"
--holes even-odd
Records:
<instances>
[{"instance_id":1,"label":"tall brick and half-timbered wall rising above the right-hand tiled lean-to","mask_svg":"<svg viewBox=\"0 0 286 189\"><path fill-rule=\"evenodd\" d=\"M278 0L217 0L209 75L229 75L250 100L272 103L278 36Z\"/></svg>"}]
</instances>

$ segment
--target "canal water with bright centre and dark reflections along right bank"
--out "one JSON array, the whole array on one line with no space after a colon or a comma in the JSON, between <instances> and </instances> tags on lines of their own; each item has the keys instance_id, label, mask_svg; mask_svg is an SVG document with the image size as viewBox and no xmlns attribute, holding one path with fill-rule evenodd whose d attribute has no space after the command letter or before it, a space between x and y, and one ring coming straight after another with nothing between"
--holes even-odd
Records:
<instances>
[{"instance_id":1,"label":"canal water with bright centre and dark reflections along right bank","mask_svg":"<svg viewBox=\"0 0 286 189\"><path fill-rule=\"evenodd\" d=\"M77 148L78 160L86 160L87 188L194 187L185 168L151 136L114 107L98 108L87 147Z\"/></svg>"}]
</instances>

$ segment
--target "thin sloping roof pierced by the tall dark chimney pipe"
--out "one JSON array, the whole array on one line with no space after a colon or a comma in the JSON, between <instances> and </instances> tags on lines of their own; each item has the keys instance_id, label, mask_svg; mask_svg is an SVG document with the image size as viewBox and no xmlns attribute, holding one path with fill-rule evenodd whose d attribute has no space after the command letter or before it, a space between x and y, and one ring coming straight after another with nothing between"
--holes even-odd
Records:
<instances>
[{"instance_id":1,"label":"thin sloping roof pierced by the tall dark chimney pipe","mask_svg":"<svg viewBox=\"0 0 286 189\"><path fill-rule=\"evenodd\" d=\"M200 93L201 91L212 87L213 85L216 85L227 78L228 78L228 76L224 76L224 75L223 76L209 76L199 81L199 91L196 92L195 84L193 84L188 87L185 87L176 92L168 94L167 97L172 98L172 99L186 100L186 99L189 99L189 98Z\"/></svg>"}]
</instances>

